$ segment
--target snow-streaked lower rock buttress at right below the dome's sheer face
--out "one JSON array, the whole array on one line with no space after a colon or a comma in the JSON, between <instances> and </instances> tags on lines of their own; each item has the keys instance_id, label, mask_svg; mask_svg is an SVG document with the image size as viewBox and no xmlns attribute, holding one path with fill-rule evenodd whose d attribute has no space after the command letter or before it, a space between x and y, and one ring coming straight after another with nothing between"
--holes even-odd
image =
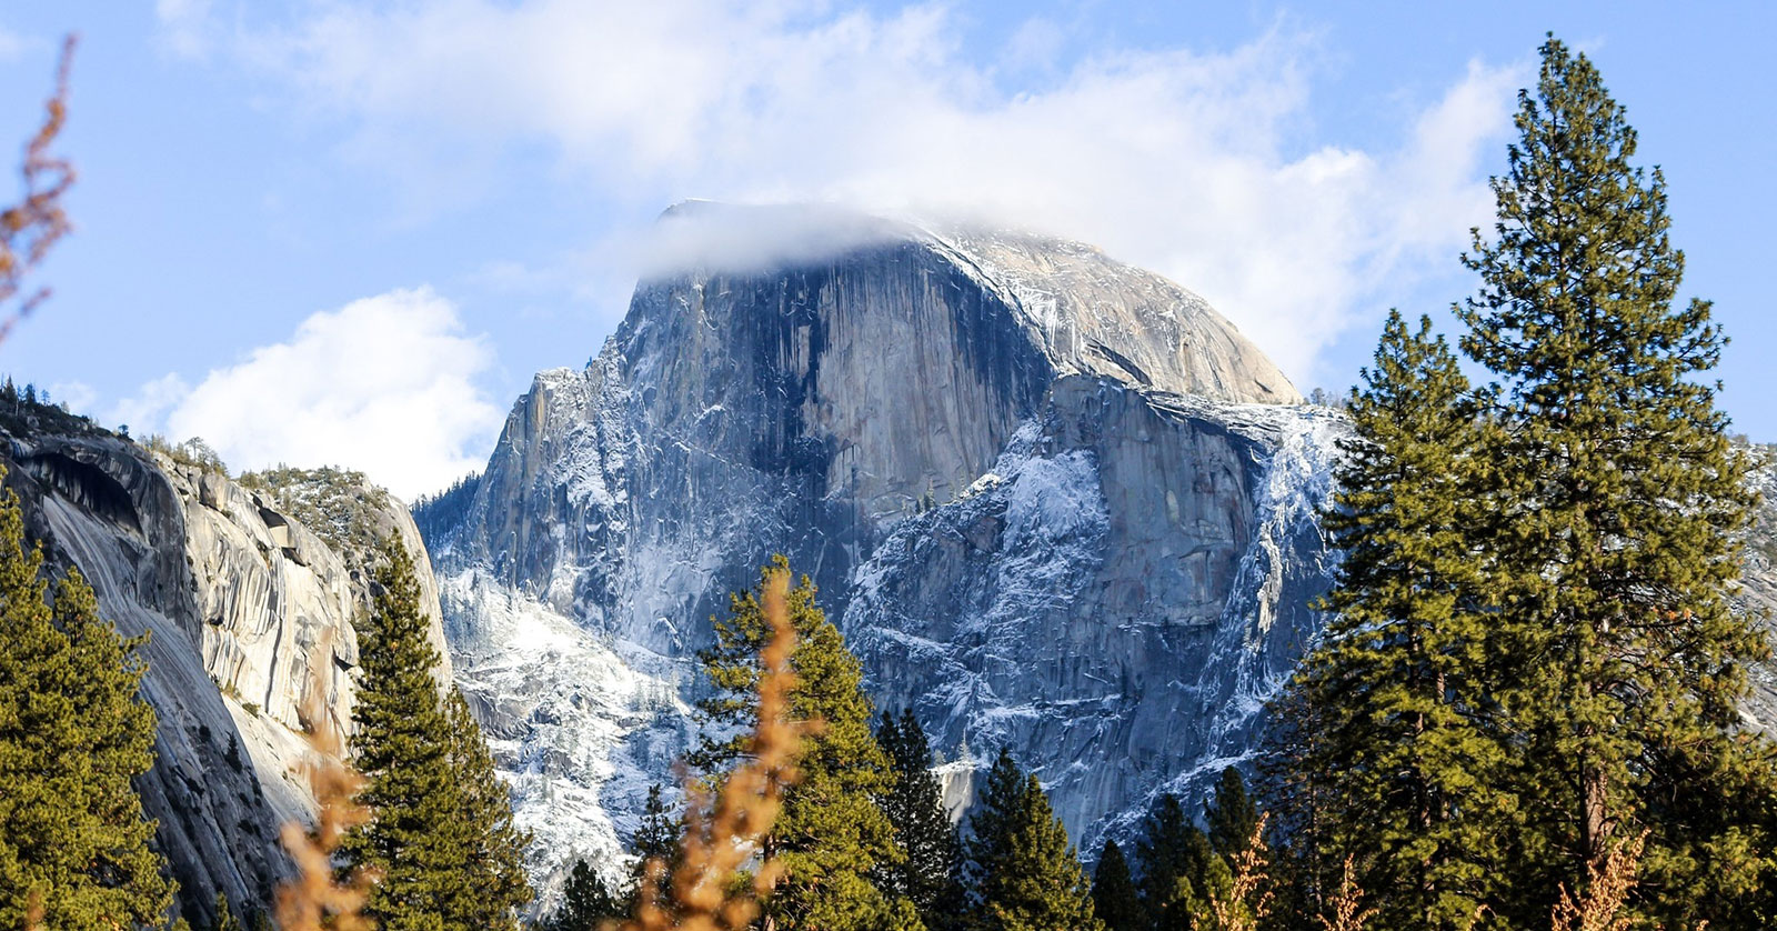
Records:
<instances>
[{"instance_id":1,"label":"snow-streaked lower rock buttress at right below the dome's sheer face","mask_svg":"<svg viewBox=\"0 0 1777 931\"><path fill-rule=\"evenodd\" d=\"M844 627L936 746L1009 744L1102 830L1249 755L1317 631L1343 419L1064 378L970 492L897 524Z\"/></svg>"}]
</instances>

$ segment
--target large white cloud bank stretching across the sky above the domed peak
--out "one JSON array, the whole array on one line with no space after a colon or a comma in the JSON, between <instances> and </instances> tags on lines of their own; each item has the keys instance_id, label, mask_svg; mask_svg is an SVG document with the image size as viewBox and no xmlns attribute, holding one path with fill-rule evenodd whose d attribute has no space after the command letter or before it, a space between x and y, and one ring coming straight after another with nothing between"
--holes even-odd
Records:
<instances>
[{"instance_id":1,"label":"large white cloud bank stretching across the sky above the domed peak","mask_svg":"<svg viewBox=\"0 0 1777 931\"><path fill-rule=\"evenodd\" d=\"M1006 92L938 5L309 11L236 32L240 55L350 121L341 151L418 190L473 188L430 179L540 144L631 208L835 201L1038 227L1203 293L1299 378L1409 259L1446 258L1487 217L1477 153L1509 128L1518 78L1473 66L1402 119L1404 142L1359 151L1301 142L1317 48L1285 28L1223 53L1100 50ZM1054 43L1032 21L1008 53Z\"/></svg>"}]
</instances>

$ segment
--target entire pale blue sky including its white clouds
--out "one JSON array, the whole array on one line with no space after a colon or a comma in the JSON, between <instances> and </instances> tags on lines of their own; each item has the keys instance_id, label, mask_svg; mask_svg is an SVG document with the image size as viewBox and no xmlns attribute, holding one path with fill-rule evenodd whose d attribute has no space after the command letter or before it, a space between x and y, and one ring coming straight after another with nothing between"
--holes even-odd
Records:
<instances>
[{"instance_id":1,"label":"entire pale blue sky including its white clouds","mask_svg":"<svg viewBox=\"0 0 1777 931\"><path fill-rule=\"evenodd\" d=\"M236 467L396 492L579 366L684 197L967 215L1201 291L1306 391L1441 314L1555 30L1661 163L1724 407L1777 439L1766 4L64 0L0 9L0 139L80 32L76 233L0 370ZM12 130L5 130L11 126Z\"/></svg>"}]
</instances>

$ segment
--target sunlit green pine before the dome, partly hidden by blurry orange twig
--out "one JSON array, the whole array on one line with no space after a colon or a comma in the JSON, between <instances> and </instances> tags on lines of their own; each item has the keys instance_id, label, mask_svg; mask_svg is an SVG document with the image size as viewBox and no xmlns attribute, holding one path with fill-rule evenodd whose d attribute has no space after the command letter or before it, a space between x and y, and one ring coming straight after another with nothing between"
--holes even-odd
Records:
<instances>
[{"instance_id":1,"label":"sunlit green pine before the dome, partly hidden by blurry orange twig","mask_svg":"<svg viewBox=\"0 0 1777 931\"><path fill-rule=\"evenodd\" d=\"M689 760L713 782L741 757L752 732L759 650L769 634L761 597L775 574L787 576L789 560L773 556L757 590L730 597L730 618L713 622L716 647L700 654L714 695L698 702L709 736ZM894 828L876 805L890 784L888 759L871 734L871 700L864 695L858 659L814 597L814 583L805 576L787 599L798 638L789 704L796 720L821 727L803 739L800 780L784 792L784 808L764 839L762 853L784 865L764 911L785 931L878 927L892 919L896 906L869 876L903 858Z\"/></svg>"}]
</instances>

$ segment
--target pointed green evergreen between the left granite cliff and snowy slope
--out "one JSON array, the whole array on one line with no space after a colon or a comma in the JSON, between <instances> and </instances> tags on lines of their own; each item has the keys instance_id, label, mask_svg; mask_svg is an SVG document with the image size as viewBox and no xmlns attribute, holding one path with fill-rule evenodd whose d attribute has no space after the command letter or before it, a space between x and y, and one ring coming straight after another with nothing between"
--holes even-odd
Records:
<instances>
[{"instance_id":1,"label":"pointed green evergreen between the left granite cliff and snowy slope","mask_svg":"<svg viewBox=\"0 0 1777 931\"><path fill-rule=\"evenodd\" d=\"M515 927L530 901L522 839L467 709L439 693L439 654L398 540L386 544L375 583L352 709L366 776L357 801L370 821L347 835L345 863L379 876L364 911L384 931Z\"/></svg>"}]
</instances>

